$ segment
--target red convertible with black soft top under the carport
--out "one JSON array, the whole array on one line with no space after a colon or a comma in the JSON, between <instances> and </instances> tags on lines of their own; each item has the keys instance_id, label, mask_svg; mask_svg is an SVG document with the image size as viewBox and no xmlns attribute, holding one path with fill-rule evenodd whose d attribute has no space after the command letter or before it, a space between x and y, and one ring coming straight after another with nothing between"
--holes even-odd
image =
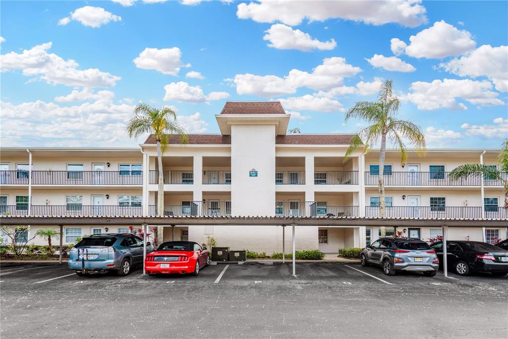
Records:
<instances>
[{"instance_id":1,"label":"red convertible with black soft top under the carport","mask_svg":"<svg viewBox=\"0 0 508 339\"><path fill-rule=\"evenodd\" d=\"M158 273L193 273L198 275L203 266L210 264L206 247L194 241L163 242L157 251L146 256L145 270L149 275Z\"/></svg>"}]
</instances>

